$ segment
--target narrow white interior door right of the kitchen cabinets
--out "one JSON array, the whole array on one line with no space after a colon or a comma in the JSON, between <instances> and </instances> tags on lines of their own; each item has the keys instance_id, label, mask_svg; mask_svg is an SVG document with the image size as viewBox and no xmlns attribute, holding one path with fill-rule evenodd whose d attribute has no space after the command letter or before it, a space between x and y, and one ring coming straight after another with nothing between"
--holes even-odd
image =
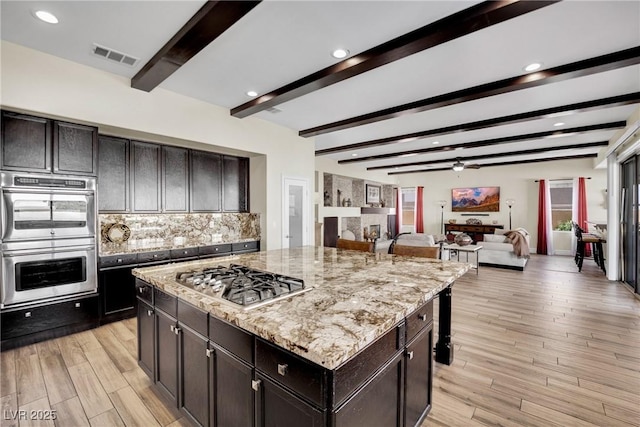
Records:
<instances>
[{"instance_id":1,"label":"narrow white interior door right of the kitchen cabinets","mask_svg":"<svg viewBox=\"0 0 640 427\"><path fill-rule=\"evenodd\" d=\"M282 247L308 245L309 190L304 179L284 178L282 197Z\"/></svg>"}]
</instances>

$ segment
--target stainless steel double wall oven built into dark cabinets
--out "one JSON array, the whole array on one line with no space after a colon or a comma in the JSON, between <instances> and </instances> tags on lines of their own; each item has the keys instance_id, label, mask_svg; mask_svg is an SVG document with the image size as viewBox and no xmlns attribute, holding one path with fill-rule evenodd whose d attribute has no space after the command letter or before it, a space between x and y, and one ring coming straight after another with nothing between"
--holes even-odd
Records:
<instances>
[{"instance_id":1,"label":"stainless steel double wall oven built into dark cabinets","mask_svg":"<svg viewBox=\"0 0 640 427\"><path fill-rule=\"evenodd\" d=\"M95 178L0 174L0 307L97 292Z\"/></svg>"}]
</instances>

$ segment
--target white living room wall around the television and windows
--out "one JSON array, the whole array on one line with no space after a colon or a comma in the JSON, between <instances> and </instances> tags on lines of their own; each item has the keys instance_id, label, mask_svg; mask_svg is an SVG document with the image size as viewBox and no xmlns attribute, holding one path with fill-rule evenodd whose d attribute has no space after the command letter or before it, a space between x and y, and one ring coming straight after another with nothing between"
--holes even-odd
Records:
<instances>
[{"instance_id":1,"label":"white living room wall around the television and windows","mask_svg":"<svg viewBox=\"0 0 640 427\"><path fill-rule=\"evenodd\" d=\"M537 245L538 227L538 183L537 179L567 179L591 177L586 180L587 212L589 220L606 220L605 207L607 173L604 169L594 169L593 159L560 160L523 165L494 166L484 169L466 169L462 172L441 171L396 175L401 187L424 186L424 227L425 233L440 230L440 206L438 200L446 200L444 222L451 218L464 223L468 216L451 212L451 189L458 187L500 187L500 212L489 216L478 216L483 223L509 227L509 208L505 200L514 199L512 207L512 228L523 227L531 234L531 247Z\"/></svg>"}]
</instances>

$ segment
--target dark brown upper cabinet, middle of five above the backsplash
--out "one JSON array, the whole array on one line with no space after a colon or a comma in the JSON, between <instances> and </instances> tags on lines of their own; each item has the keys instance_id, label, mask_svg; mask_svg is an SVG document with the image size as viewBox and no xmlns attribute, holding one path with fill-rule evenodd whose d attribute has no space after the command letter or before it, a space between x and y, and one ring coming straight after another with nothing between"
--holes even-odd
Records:
<instances>
[{"instance_id":1,"label":"dark brown upper cabinet, middle of five above the backsplash","mask_svg":"<svg viewBox=\"0 0 640 427\"><path fill-rule=\"evenodd\" d=\"M189 211L189 150L162 147L162 210Z\"/></svg>"}]
</instances>

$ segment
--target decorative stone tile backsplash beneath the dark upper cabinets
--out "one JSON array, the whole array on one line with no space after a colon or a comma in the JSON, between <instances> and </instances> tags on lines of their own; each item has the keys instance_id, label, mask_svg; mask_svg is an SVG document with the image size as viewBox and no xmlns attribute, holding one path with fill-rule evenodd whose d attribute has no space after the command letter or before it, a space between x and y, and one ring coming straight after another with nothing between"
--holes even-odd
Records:
<instances>
[{"instance_id":1,"label":"decorative stone tile backsplash beneath the dark upper cabinets","mask_svg":"<svg viewBox=\"0 0 640 427\"><path fill-rule=\"evenodd\" d=\"M260 239L260 214L100 214L101 244L108 245L106 229L114 223L131 229L128 244L136 241L184 239L197 244L215 244Z\"/></svg>"}]
</instances>

